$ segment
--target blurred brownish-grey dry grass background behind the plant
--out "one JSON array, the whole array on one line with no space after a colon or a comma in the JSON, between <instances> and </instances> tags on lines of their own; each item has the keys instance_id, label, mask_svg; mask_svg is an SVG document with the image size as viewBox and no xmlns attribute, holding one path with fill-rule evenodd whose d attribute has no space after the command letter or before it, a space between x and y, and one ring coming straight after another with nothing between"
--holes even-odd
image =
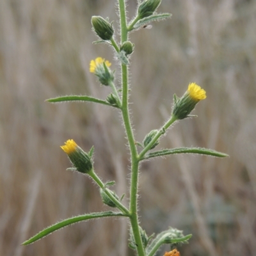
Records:
<instances>
[{"instance_id":1,"label":"blurred brownish-grey dry grass background behind the plant","mask_svg":"<svg viewBox=\"0 0 256 256\"><path fill-rule=\"evenodd\" d=\"M131 33L131 113L136 140L163 125L173 93L190 82L207 92L194 115L157 146L209 147L230 157L171 156L141 164L140 220L148 234L172 226L193 234L182 256L256 255L256 1L163 0L172 19ZM136 0L127 1L128 17ZM0 1L0 255L134 255L122 219L66 227L29 246L42 228L86 212L108 211L98 188L60 145L95 146L95 170L128 195L129 155L120 113L92 103L50 104L60 95L106 99L89 72L108 45L93 45L92 15L118 19L114 0ZM127 199L125 199L127 200ZM128 204L128 202L126 203ZM163 255L168 246L157 255Z\"/></svg>"}]
</instances>

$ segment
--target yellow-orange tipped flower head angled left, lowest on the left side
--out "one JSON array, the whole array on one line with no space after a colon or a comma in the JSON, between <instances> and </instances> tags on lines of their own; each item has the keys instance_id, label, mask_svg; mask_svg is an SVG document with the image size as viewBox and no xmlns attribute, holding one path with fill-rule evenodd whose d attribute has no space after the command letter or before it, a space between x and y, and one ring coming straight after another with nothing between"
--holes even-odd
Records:
<instances>
[{"instance_id":1,"label":"yellow-orange tipped flower head angled left, lowest on the left side","mask_svg":"<svg viewBox=\"0 0 256 256\"><path fill-rule=\"evenodd\" d=\"M92 159L82 148L77 146L74 140L67 140L61 148L67 153L68 158L78 172L88 173L92 170Z\"/></svg>"}]
</instances>

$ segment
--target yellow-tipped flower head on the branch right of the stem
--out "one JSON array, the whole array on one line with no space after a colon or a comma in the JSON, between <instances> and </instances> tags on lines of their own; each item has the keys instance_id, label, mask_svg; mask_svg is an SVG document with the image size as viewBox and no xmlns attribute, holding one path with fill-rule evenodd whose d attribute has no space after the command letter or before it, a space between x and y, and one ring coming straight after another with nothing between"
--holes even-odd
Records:
<instances>
[{"instance_id":1,"label":"yellow-tipped flower head on the branch right of the stem","mask_svg":"<svg viewBox=\"0 0 256 256\"><path fill-rule=\"evenodd\" d=\"M206 98L206 93L205 90L196 83L190 83L188 90L180 99L176 95L174 95L173 98L174 106L172 115L177 119L184 119L189 116L200 100L204 100Z\"/></svg>"}]
</instances>

